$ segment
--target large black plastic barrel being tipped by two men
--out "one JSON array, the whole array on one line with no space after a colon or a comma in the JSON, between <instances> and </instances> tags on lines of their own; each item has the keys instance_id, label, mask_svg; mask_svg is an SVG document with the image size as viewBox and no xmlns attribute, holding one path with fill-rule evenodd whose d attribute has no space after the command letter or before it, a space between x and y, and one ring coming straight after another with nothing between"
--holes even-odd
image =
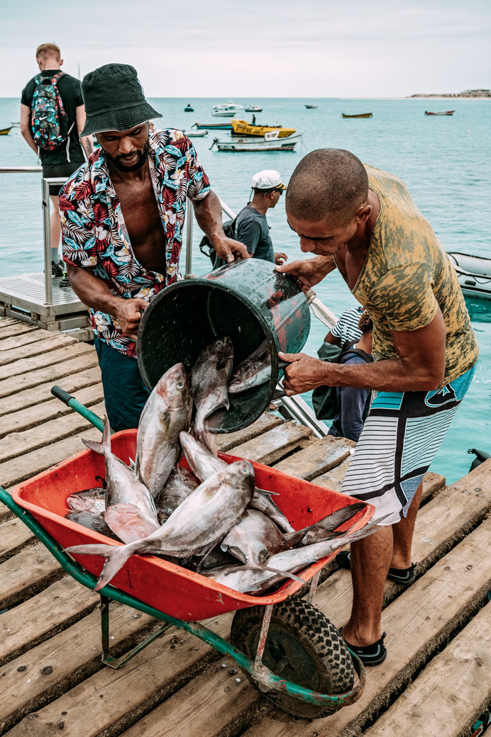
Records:
<instances>
[{"instance_id":1,"label":"large black plastic barrel being tipped by two men","mask_svg":"<svg viewBox=\"0 0 491 737\"><path fill-rule=\"evenodd\" d=\"M230 394L230 409L208 420L219 433L247 427L269 407L283 372L278 350L298 353L306 343L310 311L301 287L261 259L236 261L199 279L165 287L143 312L137 356L149 389L174 363L190 370L205 346L229 335L233 368L267 341L271 354L269 383Z\"/></svg>"}]
</instances>

